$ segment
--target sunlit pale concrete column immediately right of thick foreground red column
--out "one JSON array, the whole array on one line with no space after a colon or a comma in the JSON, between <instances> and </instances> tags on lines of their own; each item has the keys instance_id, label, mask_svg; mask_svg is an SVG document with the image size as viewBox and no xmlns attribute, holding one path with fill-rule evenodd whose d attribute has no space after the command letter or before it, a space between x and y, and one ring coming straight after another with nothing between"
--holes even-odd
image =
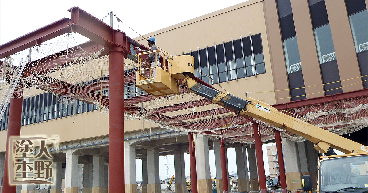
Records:
<instances>
[{"instance_id":1,"label":"sunlit pale concrete column immediately right of thick foreground red column","mask_svg":"<svg viewBox=\"0 0 368 193\"><path fill-rule=\"evenodd\" d=\"M125 192L137 192L137 183L135 181L135 146L124 140L124 179Z\"/></svg>"}]
</instances>

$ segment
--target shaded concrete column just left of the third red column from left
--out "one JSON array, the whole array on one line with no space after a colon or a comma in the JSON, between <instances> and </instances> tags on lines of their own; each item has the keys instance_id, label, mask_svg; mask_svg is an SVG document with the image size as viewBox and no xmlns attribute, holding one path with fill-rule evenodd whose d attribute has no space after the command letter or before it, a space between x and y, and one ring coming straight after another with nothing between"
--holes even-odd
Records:
<instances>
[{"instance_id":1,"label":"shaded concrete column just left of the third red column from left","mask_svg":"<svg viewBox=\"0 0 368 193\"><path fill-rule=\"evenodd\" d=\"M175 165L175 192L187 192L187 182L185 182L184 153L174 152Z\"/></svg>"}]
</instances>

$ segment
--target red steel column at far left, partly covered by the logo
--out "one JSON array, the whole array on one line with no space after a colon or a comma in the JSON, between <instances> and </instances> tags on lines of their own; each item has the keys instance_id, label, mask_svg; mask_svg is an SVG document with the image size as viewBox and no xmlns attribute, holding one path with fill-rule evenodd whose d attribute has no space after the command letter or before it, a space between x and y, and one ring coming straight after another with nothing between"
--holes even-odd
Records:
<instances>
[{"instance_id":1,"label":"red steel column at far left, partly covered by the logo","mask_svg":"<svg viewBox=\"0 0 368 193\"><path fill-rule=\"evenodd\" d=\"M23 89L21 93L23 93ZM14 92L14 94L16 93ZM10 99L8 134L7 134L7 140L6 140L5 163L4 163L3 192L15 192L17 189L17 186L9 185L9 171L8 171L8 168L9 168L8 167L9 138L19 137L21 134L22 107L23 107L23 97L18 98L18 99L13 99L13 98Z\"/></svg>"}]
</instances>

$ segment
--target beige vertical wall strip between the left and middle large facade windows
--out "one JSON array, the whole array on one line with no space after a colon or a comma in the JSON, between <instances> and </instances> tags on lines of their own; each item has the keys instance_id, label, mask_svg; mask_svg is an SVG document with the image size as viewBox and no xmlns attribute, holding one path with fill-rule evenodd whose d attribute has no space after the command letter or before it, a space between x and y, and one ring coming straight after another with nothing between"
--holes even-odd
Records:
<instances>
[{"instance_id":1,"label":"beige vertical wall strip between the left and middle large facade windows","mask_svg":"<svg viewBox=\"0 0 368 193\"><path fill-rule=\"evenodd\" d=\"M324 96L323 86L315 86L322 85L322 77L316 50L316 42L311 41L314 40L314 32L309 14L308 1L293 0L291 1L291 9L293 10L295 31L298 38L304 86L313 86L305 88L305 93L309 94L307 95L307 99Z\"/></svg>"}]
</instances>

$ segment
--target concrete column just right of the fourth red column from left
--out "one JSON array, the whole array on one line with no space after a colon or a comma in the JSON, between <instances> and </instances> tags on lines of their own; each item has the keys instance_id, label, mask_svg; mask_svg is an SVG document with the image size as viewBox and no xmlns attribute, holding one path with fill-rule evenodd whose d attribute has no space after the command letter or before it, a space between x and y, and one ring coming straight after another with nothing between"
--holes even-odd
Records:
<instances>
[{"instance_id":1,"label":"concrete column just right of the fourth red column from left","mask_svg":"<svg viewBox=\"0 0 368 193\"><path fill-rule=\"evenodd\" d=\"M250 181L247 164L247 148L245 143L234 143L236 167L238 172L238 190L239 192L250 192Z\"/></svg>"}]
</instances>

